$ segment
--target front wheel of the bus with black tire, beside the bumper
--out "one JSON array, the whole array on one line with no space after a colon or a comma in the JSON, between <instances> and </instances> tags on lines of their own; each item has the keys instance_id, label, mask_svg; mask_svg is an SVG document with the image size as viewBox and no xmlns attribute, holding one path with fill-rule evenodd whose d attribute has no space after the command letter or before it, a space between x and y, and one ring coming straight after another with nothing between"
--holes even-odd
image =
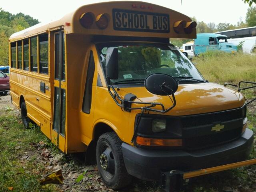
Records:
<instances>
[{"instance_id":1,"label":"front wheel of the bus with black tire, beside the bumper","mask_svg":"<svg viewBox=\"0 0 256 192\"><path fill-rule=\"evenodd\" d=\"M121 144L115 132L107 132L100 136L96 146L100 176L104 184L113 190L128 186L132 181L124 165Z\"/></svg>"}]
</instances>

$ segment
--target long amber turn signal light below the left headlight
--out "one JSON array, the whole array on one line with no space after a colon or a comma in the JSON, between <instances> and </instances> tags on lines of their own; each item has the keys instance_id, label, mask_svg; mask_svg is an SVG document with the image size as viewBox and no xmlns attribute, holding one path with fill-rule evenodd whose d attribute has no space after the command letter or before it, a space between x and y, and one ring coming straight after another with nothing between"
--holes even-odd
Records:
<instances>
[{"instance_id":1,"label":"long amber turn signal light below the left headlight","mask_svg":"<svg viewBox=\"0 0 256 192\"><path fill-rule=\"evenodd\" d=\"M137 136L136 143L143 146L179 147L182 139L155 139Z\"/></svg>"}]
</instances>

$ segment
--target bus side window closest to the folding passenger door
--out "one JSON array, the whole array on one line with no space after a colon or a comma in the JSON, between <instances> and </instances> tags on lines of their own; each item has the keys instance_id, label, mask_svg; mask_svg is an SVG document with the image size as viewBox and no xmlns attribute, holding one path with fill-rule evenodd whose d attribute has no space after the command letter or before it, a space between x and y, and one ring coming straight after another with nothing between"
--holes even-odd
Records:
<instances>
[{"instance_id":1,"label":"bus side window closest to the folding passenger door","mask_svg":"<svg viewBox=\"0 0 256 192\"><path fill-rule=\"evenodd\" d=\"M39 36L39 73L48 74L48 34Z\"/></svg>"}]
</instances>

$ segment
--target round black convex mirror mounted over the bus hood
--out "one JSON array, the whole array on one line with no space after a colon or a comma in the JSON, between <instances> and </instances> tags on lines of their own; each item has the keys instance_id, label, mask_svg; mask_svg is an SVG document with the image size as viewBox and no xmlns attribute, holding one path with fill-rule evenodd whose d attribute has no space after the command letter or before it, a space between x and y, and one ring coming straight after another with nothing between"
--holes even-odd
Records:
<instances>
[{"instance_id":1,"label":"round black convex mirror mounted over the bus hood","mask_svg":"<svg viewBox=\"0 0 256 192\"><path fill-rule=\"evenodd\" d=\"M177 81L173 77L162 73L147 76L144 84L150 93L156 95L171 95L178 89Z\"/></svg>"}]
</instances>

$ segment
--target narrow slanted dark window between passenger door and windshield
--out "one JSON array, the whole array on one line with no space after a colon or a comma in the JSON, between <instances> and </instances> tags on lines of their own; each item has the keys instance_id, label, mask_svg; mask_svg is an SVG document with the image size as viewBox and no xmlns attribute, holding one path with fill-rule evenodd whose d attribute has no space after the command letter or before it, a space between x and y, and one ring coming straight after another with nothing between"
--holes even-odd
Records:
<instances>
[{"instance_id":1,"label":"narrow slanted dark window between passenger door and windshield","mask_svg":"<svg viewBox=\"0 0 256 192\"><path fill-rule=\"evenodd\" d=\"M82 104L82 111L89 114L92 104L92 81L94 76L95 63L92 51L90 51L90 58L88 63L86 82L84 88L84 99Z\"/></svg>"}]
</instances>

